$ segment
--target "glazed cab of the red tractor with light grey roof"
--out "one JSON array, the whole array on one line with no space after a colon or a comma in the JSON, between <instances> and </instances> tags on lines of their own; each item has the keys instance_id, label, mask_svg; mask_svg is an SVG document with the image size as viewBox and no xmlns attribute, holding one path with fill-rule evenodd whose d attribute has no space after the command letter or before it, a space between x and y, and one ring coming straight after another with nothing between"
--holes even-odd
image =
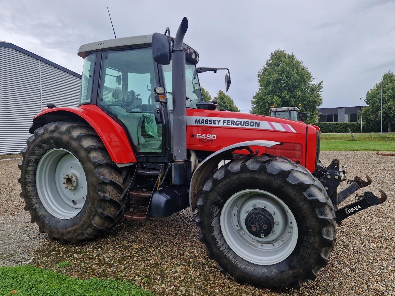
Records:
<instances>
[{"instance_id":1,"label":"glazed cab of the red tractor with light grey roof","mask_svg":"<svg viewBox=\"0 0 395 296\"><path fill-rule=\"evenodd\" d=\"M199 54L186 44L182 47L186 107L196 109L203 101L196 70ZM152 35L82 45L78 55L85 61L79 103L98 105L121 124L136 155L169 157L166 127L172 125L173 117L172 60L159 64L152 52Z\"/></svg>"}]
</instances>

